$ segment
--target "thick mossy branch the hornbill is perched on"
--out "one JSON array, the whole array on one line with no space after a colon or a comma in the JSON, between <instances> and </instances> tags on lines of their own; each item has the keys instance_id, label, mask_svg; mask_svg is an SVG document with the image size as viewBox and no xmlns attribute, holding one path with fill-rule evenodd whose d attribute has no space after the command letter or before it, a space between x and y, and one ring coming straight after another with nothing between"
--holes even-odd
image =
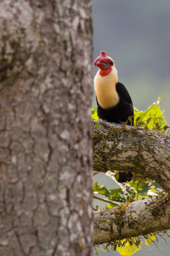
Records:
<instances>
[{"instance_id":1,"label":"thick mossy branch the hornbill is perched on","mask_svg":"<svg viewBox=\"0 0 170 256\"><path fill-rule=\"evenodd\" d=\"M170 192L169 137L128 125L122 127L96 120L92 124L94 171L141 173Z\"/></svg>"}]
</instances>

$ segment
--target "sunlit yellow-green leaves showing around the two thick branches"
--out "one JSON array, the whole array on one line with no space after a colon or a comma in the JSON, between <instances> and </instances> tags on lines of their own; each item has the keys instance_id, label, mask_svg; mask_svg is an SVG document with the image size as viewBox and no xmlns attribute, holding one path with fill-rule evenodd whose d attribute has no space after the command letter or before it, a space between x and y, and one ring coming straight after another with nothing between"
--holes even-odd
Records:
<instances>
[{"instance_id":1,"label":"sunlit yellow-green leaves showing around the two thick branches","mask_svg":"<svg viewBox=\"0 0 170 256\"><path fill-rule=\"evenodd\" d=\"M148 109L145 111L139 111L134 108L134 125L138 127L143 127L148 130L155 130L164 133L169 127L166 125L166 121L164 115L159 106L160 98L157 102L153 103ZM99 120L97 116L97 108L92 108L92 118L95 120ZM98 127L97 127L98 128ZM110 176L110 175L109 175ZM139 175L134 176L131 182L125 184L119 184L120 188L116 189L107 189L105 186L100 186L98 182L94 183L94 193L103 195L106 199L112 200L114 202L118 202L122 204L127 204L127 202L134 202L136 200L143 200L144 198L150 196L158 196L160 193L164 193L163 189L160 188L159 184L150 179L142 179ZM115 207L115 204L108 204L107 207ZM154 243L155 234L149 234L145 236L145 244L150 245L150 243ZM111 250L116 250L121 255L131 256L133 253L140 250L141 241L139 237L131 237L131 239L124 239L122 241L117 241L116 243L108 244L104 246L104 249L99 248L99 250L106 251L108 248ZM97 250L96 250L97 255Z\"/></svg>"}]
</instances>

